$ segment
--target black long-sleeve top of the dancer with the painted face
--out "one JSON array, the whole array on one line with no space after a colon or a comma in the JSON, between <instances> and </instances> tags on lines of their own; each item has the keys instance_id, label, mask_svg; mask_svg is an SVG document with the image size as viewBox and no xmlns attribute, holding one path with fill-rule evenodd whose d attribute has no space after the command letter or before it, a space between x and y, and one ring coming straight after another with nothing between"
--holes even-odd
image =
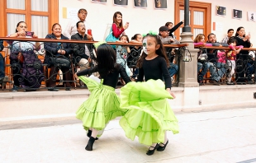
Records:
<instances>
[{"instance_id":1,"label":"black long-sleeve top of the dancer with the painted face","mask_svg":"<svg viewBox=\"0 0 256 163\"><path fill-rule=\"evenodd\" d=\"M145 77L145 81L148 81L149 79L161 79L163 81L164 77L165 88L172 87L171 77L163 57L158 56L152 60L144 59L142 68L139 68L137 81L143 81L143 77Z\"/></svg>"}]
</instances>

